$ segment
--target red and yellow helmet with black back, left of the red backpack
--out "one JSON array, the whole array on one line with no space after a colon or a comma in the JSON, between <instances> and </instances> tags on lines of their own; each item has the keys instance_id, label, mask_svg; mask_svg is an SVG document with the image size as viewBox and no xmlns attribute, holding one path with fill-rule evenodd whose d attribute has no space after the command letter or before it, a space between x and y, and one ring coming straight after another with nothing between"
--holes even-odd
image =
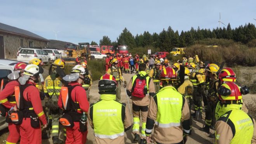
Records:
<instances>
[{"instance_id":1,"label":"red and yellow helmet with black back, left of the red backpack","mask_svg":"<svg viewBox=\"0 0 256 144\"><path fill-rule=\"evenodd\" d=\"M98 83L98 88L100 94L104 92L115 92L117 89L117 81L115 80L115 76L107 73L101 76Z\"/></svg>"}]
</instances>

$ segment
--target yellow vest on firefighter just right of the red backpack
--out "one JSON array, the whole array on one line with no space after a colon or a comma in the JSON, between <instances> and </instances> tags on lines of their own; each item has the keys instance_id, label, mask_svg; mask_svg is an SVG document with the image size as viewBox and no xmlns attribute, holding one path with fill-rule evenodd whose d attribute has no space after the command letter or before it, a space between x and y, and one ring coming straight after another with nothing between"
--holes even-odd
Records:
<instances>
[{"instance_id":1,"label":"yellow vest on firefighter just right of the red backpack","mask_svg":"<svg viewBox=\"0 0 256 144\"><path fill-rule=\"evenodd\" d=\"M162 128L179 127L184 106L183 97L174 87L164 87L154 96L157 97L157 120L155 125Z\"/></svg>"}]
</instances>

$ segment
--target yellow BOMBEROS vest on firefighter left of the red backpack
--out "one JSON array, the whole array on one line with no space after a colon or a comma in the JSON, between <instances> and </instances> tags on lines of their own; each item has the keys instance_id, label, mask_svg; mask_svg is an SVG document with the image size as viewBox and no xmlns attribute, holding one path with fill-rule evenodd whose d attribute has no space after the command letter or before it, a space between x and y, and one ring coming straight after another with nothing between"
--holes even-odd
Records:
<instances>
[{"instance_id":1,"label":"yellow BOMBEROS vest on firefighter left of the red backpack","mask_svg":"<svg viewBox=\"0 0 256 144\"><path fill-rule=\"evenodd\" d=\"M90 117L94 125L94 135L101 139L115 139L124 136L125 104L115 101L115 95L102 94L101 97L114 97L101 100L90 106Z\"/></svg>"}]
</instances>

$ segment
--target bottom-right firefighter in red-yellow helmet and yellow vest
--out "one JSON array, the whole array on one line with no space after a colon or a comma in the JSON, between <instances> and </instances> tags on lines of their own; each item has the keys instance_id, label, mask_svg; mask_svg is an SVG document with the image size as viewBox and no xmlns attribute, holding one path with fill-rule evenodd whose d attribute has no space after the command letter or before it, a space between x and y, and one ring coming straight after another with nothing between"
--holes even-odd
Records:
<instances>
[{"instance_id":1,"label":"bottom-right firefighter in red-yellow helmet and yellow vest","mask_svg":"<svg viewBox=\"0 0 256 144\"><path fill-rule=\"evenodd\" d=\"M247 87L233 82L223 83L218 89L221 117L216 121L216 144L255 144L256 122L240 108L242 95L248 94Z\"/></svg>"}]
</instances>

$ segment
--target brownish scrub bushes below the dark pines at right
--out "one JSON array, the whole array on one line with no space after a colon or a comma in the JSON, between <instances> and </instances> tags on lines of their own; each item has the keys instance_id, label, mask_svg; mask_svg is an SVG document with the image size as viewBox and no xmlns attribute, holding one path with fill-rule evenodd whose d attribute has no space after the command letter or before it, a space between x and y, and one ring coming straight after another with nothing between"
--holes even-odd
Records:
<instances>
[{"instance_id":1,"label":"brownish scrub bushes below the dark pines at right","mask_svg":"<svg viewBox=\"0 0 256 144\"><path fill-rule=\"evenodd\" d=\"M207 47L205 45L196 44L187 47L184 51L186 56L198 55L199 59L202 61L209 61L217 64L221 64L221 62L225 61L227 66L256 65L256 49L236 43L231 44L228 47Z\"/></svg>"}]
</instances>

